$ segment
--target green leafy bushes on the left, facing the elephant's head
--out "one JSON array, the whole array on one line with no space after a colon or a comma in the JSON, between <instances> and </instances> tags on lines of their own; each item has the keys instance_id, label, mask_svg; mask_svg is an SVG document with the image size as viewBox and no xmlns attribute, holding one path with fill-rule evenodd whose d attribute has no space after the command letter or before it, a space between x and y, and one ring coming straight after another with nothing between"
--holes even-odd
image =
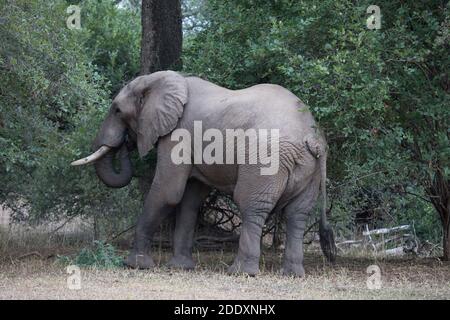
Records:
<instances>
[{"instance_id":1,"label":"green leafy bushes on the left, facing the elephant's head","mask_svg":"<svg viewBox=\"0 0 450 320\"><path fill-rule=\"evenodd\" d=\"M0 203L19 220L94 216L108 221L102 229L122 228L139 212L136 183L111 190L93 168L69 165L90 153L111 100L86 49L88 24L69 30L67 7L59 0L2 2Z\"/></svg>"}]
</instances>

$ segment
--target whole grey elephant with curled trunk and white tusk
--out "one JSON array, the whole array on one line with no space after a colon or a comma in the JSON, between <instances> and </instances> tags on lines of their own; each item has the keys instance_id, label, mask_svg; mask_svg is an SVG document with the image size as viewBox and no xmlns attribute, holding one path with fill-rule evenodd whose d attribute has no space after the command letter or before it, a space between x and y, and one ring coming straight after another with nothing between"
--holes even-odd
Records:
<instances>
[{"instance_id":1,"label":"whole grey elephant with curled trunk and white tusk","mask_svg":"<svg viewBox=\"0 0 450 320\"><path fill-rule=\"evenodd\" d=\"M271 140L271 147L278 143L276 172L261 174L264 164L260 162L174 163L173 150L179 141L174 140L173 133L183 130L195 138L196 122L219 133L229 129L278 130L278 142ZM187 143L192 152L188 152L188 158L198 152L194 144ZM238 152L249 155L251 147L241 144L231 151L236 158ZM282 272L304 276L305 223L320 190L320 244L326 258L334 261L336 246L326 216L327 143L311 112L289 90L274 84L230 90L170 70L138 76L113 99L93 142L95 152L72 164L94 163L100 180L120 188L131 180L128 153L134 148L141 157L156 148L157 164L136 224L133 248L124 261L128 267L155 266L150 253L152 236L162 220L174 214L174 253L168 264L193 269L196 219L212 188L231 195L242 214L239 248L229 273L259 273L262 228L269 215L283 214L286 244ZM200 142L199 148L206 148L205 141ZM113 161L120 163L119 168L114 168Z\"/></svg>"}]
</instances>

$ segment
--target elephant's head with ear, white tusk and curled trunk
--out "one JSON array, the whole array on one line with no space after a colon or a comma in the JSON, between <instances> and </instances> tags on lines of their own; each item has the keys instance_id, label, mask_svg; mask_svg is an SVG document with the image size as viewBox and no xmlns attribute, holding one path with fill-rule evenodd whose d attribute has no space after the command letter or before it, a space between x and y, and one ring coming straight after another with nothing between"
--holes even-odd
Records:
<instances>
[{"instance_id":1,"label":"elephant's head with ear, white tusk and curled trunk","mask_svg":"<svg viewBox=\"0 0 450 320\"><path fill-rule=\"evenodd\" d=\"M94 140L95 152L72 165L94 162L98 177L107 186L126 186L132 177L126 141L136 143L139 155L144 157L159 137L175 129L187 95L186 80L176 72L137 77L114 98ZM118 171L113 165L115 158L120 163Z\"/></svg>"}]
</instances>

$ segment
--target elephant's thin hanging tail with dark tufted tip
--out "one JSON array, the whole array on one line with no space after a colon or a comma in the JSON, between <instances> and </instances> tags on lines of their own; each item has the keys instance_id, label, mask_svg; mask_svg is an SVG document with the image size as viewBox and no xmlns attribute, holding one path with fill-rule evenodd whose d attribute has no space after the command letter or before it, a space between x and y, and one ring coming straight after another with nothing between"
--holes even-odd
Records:
<instances>
[{"instance_id":1,"label":"elephant's thin hanging tail with dark tufted tip","mask_svg":"<svg viewBox=\"0 0 450 320\"><path fill-rule=\"evenodd\" d=\"M305 143L310 153L317 159L320 166L320 188L322 191L322 213L319 221L320 247L325 257L330 262L336 260L336 243L334 233L327 219L327 151L325 141L318 141L317 136L307 135Z\"/></svg>"}]
</instances>

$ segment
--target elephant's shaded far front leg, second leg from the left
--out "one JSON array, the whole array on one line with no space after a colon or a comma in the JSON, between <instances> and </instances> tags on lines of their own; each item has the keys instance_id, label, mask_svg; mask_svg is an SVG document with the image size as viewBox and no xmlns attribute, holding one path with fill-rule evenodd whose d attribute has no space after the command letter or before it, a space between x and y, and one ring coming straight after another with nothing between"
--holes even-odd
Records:
<instances>
[{"instance_id":1,"label":"elephant's shaded far front leg, second leg from the left","mask_svg":"<svg viewBox=\"0 0 450 320\"><path fill-rule=\"evenodd\" d=\"M174 255L168 265L173 268L194 269L192 247L198 211L210 188L198 180L191 179L186 185L181 203L177 207L177 217L173 238Z\"/></svg>"}]
</instances>

